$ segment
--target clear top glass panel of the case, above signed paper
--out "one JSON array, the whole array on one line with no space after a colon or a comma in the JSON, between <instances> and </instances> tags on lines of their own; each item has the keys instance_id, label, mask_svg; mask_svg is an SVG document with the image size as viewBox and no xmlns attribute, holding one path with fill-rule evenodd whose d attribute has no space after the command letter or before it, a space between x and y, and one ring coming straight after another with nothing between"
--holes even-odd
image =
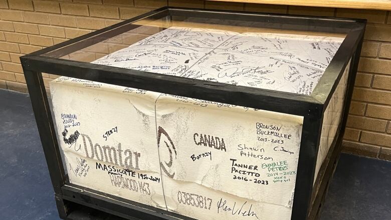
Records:
<instances>
[{"instance_id":1,"label":"clear top glass panel of the case, above signed paper","mask_svg":"<svg viewBox=\"0 0 391 220\"><path fill-rule=\"evenodd\" d=\"M193 17L132 25L136 28L61 58L309 95L345 37Z\"/></svg>"}]
</instances>

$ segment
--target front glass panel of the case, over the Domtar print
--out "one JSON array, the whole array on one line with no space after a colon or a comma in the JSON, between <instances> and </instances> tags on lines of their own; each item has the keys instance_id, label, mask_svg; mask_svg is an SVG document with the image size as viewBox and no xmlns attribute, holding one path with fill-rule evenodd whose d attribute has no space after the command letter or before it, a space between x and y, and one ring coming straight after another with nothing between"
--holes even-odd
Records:
<instances>
[{"instance_id":1,"label":"front glass panel of the case, over the Domtar print","mask_svg":"<svg viewBox=\"0 0 391 220\"><path fill-rule=\"evenodd\" d=\"M198 219L290 219L303 117L45 82L70 182Z\"/></svg>"}]
</instances>

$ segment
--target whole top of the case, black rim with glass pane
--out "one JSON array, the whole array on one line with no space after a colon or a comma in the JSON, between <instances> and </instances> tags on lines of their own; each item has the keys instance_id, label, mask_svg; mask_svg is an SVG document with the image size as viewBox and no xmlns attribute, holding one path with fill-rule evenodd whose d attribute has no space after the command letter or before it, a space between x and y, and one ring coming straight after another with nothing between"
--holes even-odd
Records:
<instances>
[{"instance_id":1,"label":"whole top of the case, black rim with glass pane","mask_svg":"<svg viewBox=\"0 0 391 220\"><path fill-rule=\"evenodd\" d=\"M24 65L40 72L188 97L197 86L325 103L364 26L359 19L166 7L22 60L54 64ZM117 82L118 74L133 79Z\"/></svg>"}]
</instances>

